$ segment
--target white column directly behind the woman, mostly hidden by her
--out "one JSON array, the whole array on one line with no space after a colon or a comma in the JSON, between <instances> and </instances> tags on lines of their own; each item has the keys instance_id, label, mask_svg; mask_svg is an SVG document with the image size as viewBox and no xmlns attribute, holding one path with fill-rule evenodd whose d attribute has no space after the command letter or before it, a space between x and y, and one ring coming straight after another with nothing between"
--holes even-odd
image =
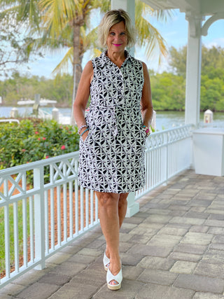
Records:
<instances>
[{"instance_id":1,"label":"white column directly behind the woman, mostly hidden by her","mask_svg":"<svg viewBox=\"0 0 224 299\"><path fill-rule=\"evenodd\" d=\"M111 0L111 9L122 8L130 15L132 25L135 23L135 3L134 0ZM134 56L134 47L128 49L130 54ZM126 217L131 217L139 211L139 202L134 202L135 193L132 192L127 197L127 214Z\"/></svg>"}]
</instances>

